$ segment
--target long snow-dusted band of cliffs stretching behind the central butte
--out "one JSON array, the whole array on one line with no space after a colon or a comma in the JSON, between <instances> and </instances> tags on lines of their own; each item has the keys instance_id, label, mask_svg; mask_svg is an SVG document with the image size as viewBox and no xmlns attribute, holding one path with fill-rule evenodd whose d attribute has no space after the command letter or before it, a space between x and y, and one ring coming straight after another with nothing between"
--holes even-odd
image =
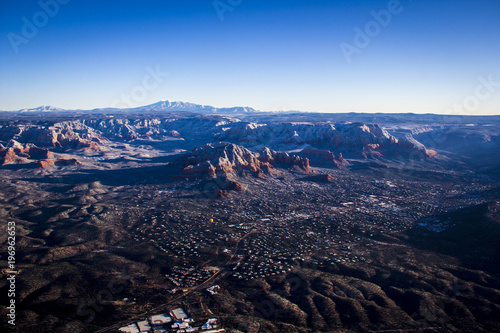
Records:
<instances>
[{"instance_id":1,"label":"long snow-dusted band of cliffs stretching behind the central butte","mask_svg":"<svg viewBox=\"0 0 500 333\"><path fill-rule=\"evenodd\" d=\"M0 128L0 141L14 139L51 149L86 148L98 150L104 140L188 140L191 147L205 142L231 142L252 150L270 147L288 151L311 147L343 154L347 158L410 156L434 152L414 135L393 136L376 124L328 122L263 123L240 121L226 116L169 115L165 117L85 119L55 123L52 126L21 125ZM336 164L334 159L331 163Z\"/></svg>"}]
</instances>

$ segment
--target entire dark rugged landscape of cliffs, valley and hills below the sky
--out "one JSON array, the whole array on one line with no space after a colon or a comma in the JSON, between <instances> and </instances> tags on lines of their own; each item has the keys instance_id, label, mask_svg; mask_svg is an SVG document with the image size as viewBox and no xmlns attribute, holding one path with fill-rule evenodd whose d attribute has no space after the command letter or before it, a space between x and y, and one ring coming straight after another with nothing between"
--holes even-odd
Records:
<instances>
[{"instance_id":1,"label":"entire dark rugged landscape of cliffs, valley and hills below the sky","mask_svg":"<svg viewBox=\"0 0 500 333\"><path fill-rule=\"evenodd\" d=\"M499 117L172 108L0 112L16 329L500 331Z\"/></svg>"}]
</instances>

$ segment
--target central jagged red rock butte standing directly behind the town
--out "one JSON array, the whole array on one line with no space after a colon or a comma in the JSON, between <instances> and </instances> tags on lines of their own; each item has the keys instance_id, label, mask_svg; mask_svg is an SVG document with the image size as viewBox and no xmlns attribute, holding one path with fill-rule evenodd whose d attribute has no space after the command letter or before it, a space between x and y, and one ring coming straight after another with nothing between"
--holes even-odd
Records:
<instances>
[{"instance_id":1,"label":"central jagged red rock butte standing directly behind the town","mask_svg":"<svg viewBox=\"0 0 500 333\"><path fill-rule=\"evenodd\" d=\"M287 167L302 172L313 172L309 160L269 148L260 153L228 142L210 143L193 149L184 158L183 174L203 175L209 178L241 175L245 172L270 174L272 169Z\"/></svg>"}]
</instances>

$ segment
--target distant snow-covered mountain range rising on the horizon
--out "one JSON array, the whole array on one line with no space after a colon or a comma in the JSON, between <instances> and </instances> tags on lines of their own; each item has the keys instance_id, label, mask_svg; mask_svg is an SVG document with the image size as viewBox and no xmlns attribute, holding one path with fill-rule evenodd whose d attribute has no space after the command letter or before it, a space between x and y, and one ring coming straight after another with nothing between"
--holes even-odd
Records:
<instances>
[{"instance_id":1,"label":"distant snow-covered mountain range rising on the horizon","mask_svg":"<svg viewBox=\"0 0 500 333\"><path fill-rule=\"evenodd\" d=\"M36 112L64 112L64 111L79 111L79 112L105 112L105 111L129 111L129 112L154 112L154 111L186 111L204 114L226 114L226 113L255 113L260 112L251 107L228 107L228 108L216 108L210 105L200 105L186 102L175 102L175 101L159 101L154 104L139 106L136 108L97 108L93 110L72 110L72 109L62 109L53 106L39 106L32 109L21 109L13 112L22 113L36 113Z\"/></svg>"}]
</instances>

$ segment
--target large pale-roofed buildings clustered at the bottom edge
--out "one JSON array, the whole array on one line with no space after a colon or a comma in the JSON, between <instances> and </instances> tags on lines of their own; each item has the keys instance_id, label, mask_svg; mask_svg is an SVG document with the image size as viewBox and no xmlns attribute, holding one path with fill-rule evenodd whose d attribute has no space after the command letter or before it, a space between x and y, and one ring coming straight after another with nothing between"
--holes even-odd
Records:
<instances>
[{"instance_id":1,"label":"large pale-roofed buildings clustered at the bottom edge","mask_svg":"<svg viewBox=\"0 0 500 333\"><path fill-rule=\"evenodd\" d=\"M182 308L175 308L168 314L158 314L147 319L133 322L119 330L123 333L222 333L216 318L208 319L202 325L194 325L195 320L190 318Z\"/></svg>"}]
</instances>

